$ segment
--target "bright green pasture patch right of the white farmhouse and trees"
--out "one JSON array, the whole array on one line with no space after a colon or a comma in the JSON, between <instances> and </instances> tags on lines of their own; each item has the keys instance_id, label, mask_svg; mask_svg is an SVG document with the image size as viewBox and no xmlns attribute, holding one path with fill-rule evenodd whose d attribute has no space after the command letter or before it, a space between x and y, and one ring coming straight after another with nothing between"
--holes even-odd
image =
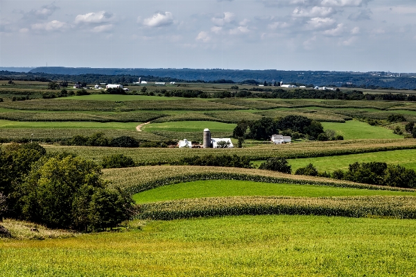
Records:
<instances>
[{"instance_id":1,"label":"bright green pasture patch right of the white farmhouse and trees","mask_svg":"<svg viewBox=\"0 0 416 277\"><path fill-rule=\"evenodd\" d=\"M387 128L370 126L369 124L356 120L349 120L345 123L322 122L324 130L332 129L338 135L342 135L344 140L360 139L398 139L401 135L395 135Z\"/></svg>"}]
</instances>

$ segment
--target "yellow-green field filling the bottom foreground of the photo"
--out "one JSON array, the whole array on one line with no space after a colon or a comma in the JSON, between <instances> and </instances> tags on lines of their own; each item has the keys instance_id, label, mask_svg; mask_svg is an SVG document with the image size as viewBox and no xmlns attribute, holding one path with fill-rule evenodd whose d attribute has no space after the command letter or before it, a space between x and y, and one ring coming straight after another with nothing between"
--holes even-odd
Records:
<instances>
[{"instance_id":1,"label":"yellow-green field filling the bottom foreground of the photo","mask_svg":"<svg viewBox=\"0 0 416 277\"><path fill-rule=\"evenodd\" d=\"M0 240L0 276L414 276L415 220L151 221L142 230Z\"/></svg>"}]
</instances>

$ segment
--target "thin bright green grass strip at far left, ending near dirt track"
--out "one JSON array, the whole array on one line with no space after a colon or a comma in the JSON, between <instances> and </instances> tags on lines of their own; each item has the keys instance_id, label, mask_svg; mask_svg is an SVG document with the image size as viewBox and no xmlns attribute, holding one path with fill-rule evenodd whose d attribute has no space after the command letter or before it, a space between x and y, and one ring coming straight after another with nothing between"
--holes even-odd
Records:
<instances>
[{"instance_id":1,"label":"thin bright green grass strip at far left, ending near dirt track","mask_svg":"<svg viewBox=\"0 0 416 277\"><path fill-rule=\"evenodd\" d=\"M135 131L137 122L94 122L94 121L10 121L0 119L0 128L96 128Z\"/></svg>"}]
</instances>

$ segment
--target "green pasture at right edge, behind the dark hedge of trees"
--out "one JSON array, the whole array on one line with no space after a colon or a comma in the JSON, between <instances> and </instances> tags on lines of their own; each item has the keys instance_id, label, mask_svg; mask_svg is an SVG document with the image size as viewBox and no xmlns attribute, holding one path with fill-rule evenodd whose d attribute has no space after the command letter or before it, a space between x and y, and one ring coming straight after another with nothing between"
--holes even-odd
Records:
<instances>
[{"instance_id":1,"label":"green pasture at right edge, behind the dark hedge of trees","mask_svg":"<svg viewBox=\"0 0 416 277\"><path fill-rule=\"evenodd\" d=\"M348 165L354 162L387 162L392 165L401 165L416 170L416 150L381 151L341 156L327 156L318 158L300 158L288 160L292 171L306 167L312 163L319 171L332 172L336 169L348 170Z\"/></svg>"}]
</instances>

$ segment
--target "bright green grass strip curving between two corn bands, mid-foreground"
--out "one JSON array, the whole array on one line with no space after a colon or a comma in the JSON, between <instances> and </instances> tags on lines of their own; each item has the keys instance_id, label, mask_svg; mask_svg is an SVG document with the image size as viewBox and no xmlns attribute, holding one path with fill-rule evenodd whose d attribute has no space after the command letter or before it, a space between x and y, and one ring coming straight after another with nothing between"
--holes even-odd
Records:
<instances>
[{"instance_id":1,"label":"bright green grass strip curving between two corn bands, mid-foreground","mask_svg":"<svg viewBox=\"0 0 416 277\"><path fill-rule=\"evenodd\" d=\"M272 184L251 181L215 180L195 181L157 187L133 196L137 203L222 196L367 196L415 195L414 192L358 190L346 187L316 185Z\"/></svg>"}]
</instances>

